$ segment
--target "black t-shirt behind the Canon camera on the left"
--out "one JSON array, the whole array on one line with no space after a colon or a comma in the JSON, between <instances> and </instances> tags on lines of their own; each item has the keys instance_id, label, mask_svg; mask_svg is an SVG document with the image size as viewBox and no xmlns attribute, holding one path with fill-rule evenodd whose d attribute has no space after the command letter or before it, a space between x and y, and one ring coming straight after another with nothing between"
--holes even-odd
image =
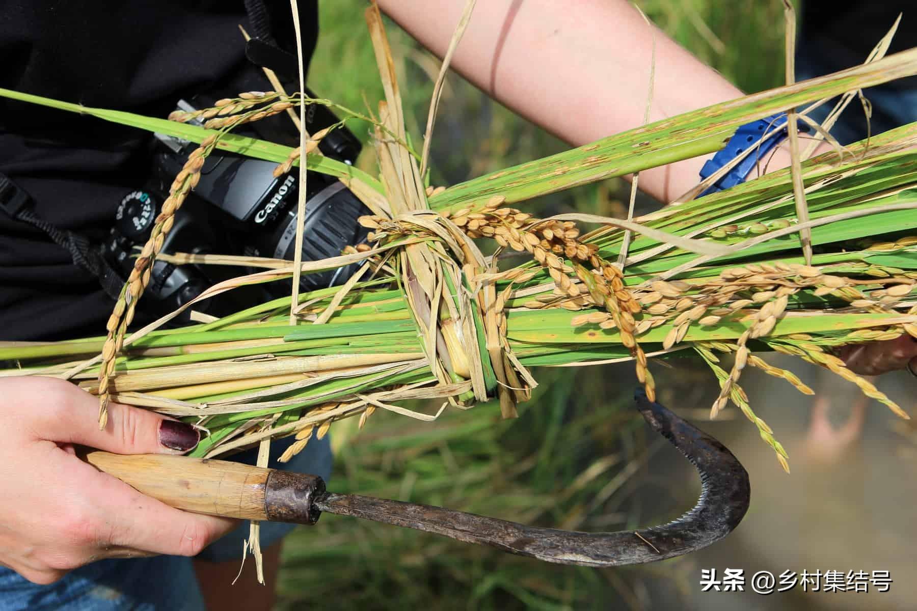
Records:
<instances>
[{"instance_id":1,"label":"black t-shirt behind the Canon camera on the left","mask_svg":"<svg viewBox=\"0 0 917 611\"><path fill-rule=\"evenodd\" d=\"M308 58L317 9L299 4ZM287 46L293 26L277 18L283 6L272 34ZM241 0L7 0L0 87L160 117L197 93L270 89L245 59L239 25L251 33ZM149 174L149 143L138 129L0 99L0 172L28 191L39 216L94 239ZM0 340L102 334L112 305L64 248L0 213Z\"/></svg>"}]
</instances>

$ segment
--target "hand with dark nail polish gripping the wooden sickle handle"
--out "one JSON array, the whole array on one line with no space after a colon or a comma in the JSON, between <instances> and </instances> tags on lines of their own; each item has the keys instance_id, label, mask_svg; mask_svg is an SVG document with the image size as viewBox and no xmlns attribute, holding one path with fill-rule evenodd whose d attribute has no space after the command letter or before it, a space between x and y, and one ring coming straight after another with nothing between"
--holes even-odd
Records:
<instances>
[{"instance_id":1,"label":"hand with dark nail polish gripping the wooden sickle handle","mask_svg":"<svg viewBox=\"0 0 917 611\"><path fill-rule=\"evenodd\" d=\"M50 377L0 378L0 397L0 564L28 581L50 584L104 558L193 556L238 523L168 507L74 450L181 454L198 442L188 425L109 404L100 431L96 398Z\"/></svg>"}]
</instances>

